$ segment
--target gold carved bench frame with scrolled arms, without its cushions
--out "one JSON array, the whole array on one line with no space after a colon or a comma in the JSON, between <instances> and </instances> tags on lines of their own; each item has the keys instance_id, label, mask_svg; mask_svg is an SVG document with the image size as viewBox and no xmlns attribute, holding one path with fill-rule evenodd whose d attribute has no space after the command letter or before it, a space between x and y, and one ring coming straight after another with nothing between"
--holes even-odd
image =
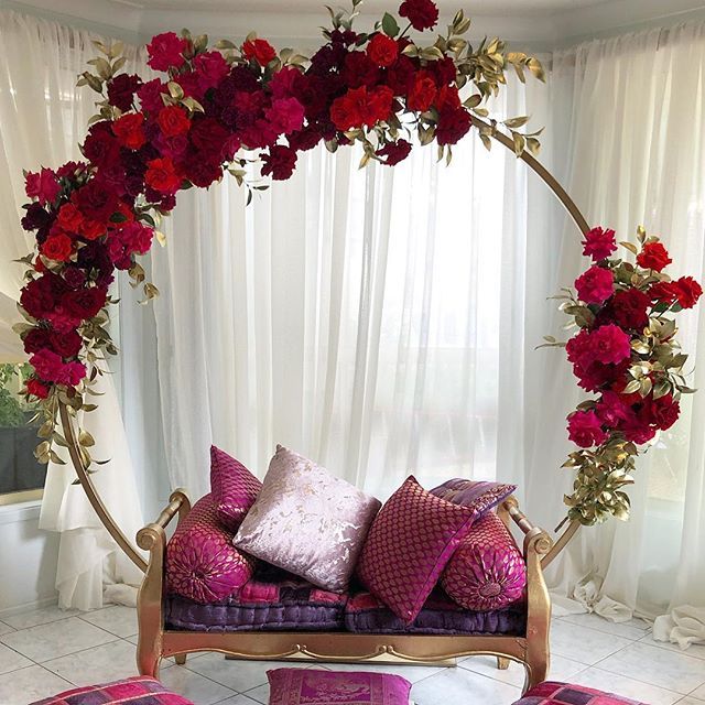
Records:
<instances>
[{"instance_id":1,"label":"gold carved bench frame with scrolled arms, without its cushions","mask_svg":"<svg viewBox=\"0 0 705 705\"><path fill-rule=\"evenodd\" d=\"M543 579L542 558L549 555L553 542L520 511L517 500L508 498L499 516L509 525L512 521L523 533L523 556L527 562L527 631L514 636L425 636L360 634L351 632L269 631L269 632L202 632L166 629L164 623L164 558L166 527L178 514L181 523L191 511L186 494L178 489L159 518L138 533L138 545L150 552L144 581L138 597L140 634L137 660L141 674L156 676L161 659L175 657L184 663L186 654L218 651L236 659L288 660L311 659L323 662L360 662L379 657L415 663L442 663L458 657L489 654L497 657L498 668L509 661L525 668L525 687L545 680L549 671L549 628L551 600Z\"/></svg>"}]
</instances>

